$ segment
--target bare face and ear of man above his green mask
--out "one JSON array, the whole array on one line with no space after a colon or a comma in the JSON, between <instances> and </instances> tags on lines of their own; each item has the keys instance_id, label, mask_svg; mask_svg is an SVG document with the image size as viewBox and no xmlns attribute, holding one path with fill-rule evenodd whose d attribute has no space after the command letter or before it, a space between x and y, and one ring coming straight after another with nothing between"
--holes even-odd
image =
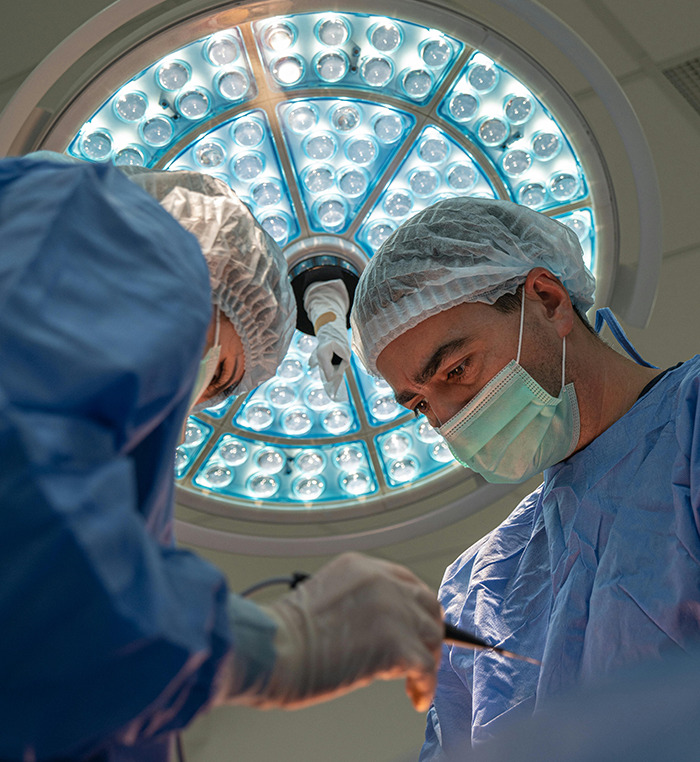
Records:
<instances>
[{"instance_id":1,"label":"bare face and ear of man above his green mask","mask_svg":"<svg viewBox=\"0 0 700 762\"><path fill-rule=\"evenodd\" d=\"M399 404L438 427L461 410L518 352L520 311L460 304L424 320L394 339L377 369ZM550 394L561 387L561 339L526 299L520 364Z\"/></svg>"}]
</instances>

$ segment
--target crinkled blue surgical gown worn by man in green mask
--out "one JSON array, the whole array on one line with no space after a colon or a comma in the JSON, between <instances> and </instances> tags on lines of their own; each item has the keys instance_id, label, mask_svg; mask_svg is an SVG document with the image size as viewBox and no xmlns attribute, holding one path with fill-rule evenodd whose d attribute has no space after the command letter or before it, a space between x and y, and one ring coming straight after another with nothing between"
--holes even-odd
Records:
<instances>
[{"instance_id":1,"label":"crinkled blue surgical gown worn by man in green mask","mask_svg":"<svg viewBox=\"0 0 700 762\"><path fill-rule=\"evenodd\" d=\"M444 647L421 762L542 701L700 644L700 357L544 473L443 578L446 619L542 661Z\"/></svg>"}]
</instances>

